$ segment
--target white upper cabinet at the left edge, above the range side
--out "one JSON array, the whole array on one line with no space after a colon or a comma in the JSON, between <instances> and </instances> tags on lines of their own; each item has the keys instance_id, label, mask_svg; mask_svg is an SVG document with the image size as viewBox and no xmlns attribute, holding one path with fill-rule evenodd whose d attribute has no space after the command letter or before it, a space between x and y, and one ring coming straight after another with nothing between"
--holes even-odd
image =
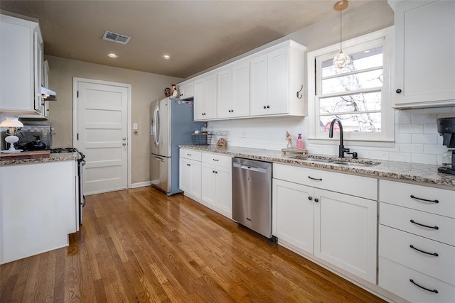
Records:
<instances>
[{"instance_id":1,"label":"white upper cabinet at the left edge, above the range side","mask_svg":"<svg viewBox=\"0 0 455 303\"><path fill-rule=\"evenodd\" d=\"M41 116L43 38L38 23L0 15L0 111Z\"/></svg>"}]
</instances>

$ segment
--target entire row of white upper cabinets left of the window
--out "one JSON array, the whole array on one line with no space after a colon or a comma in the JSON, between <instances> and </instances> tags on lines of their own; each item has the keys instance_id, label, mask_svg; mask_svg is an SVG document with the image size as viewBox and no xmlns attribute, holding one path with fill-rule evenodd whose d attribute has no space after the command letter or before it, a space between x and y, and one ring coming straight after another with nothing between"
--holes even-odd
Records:
<instances>
[{"instance_id":1,"label":"entire row of white upper cabinets left of the window","mask_svg":"<svg viewBox=\"0 0 455 303\"><path fill-rule=\"evenodd\" d=\"M287 40L191 79L194 119L305 116L305 50Z\"/></svg>"}]
</instances>

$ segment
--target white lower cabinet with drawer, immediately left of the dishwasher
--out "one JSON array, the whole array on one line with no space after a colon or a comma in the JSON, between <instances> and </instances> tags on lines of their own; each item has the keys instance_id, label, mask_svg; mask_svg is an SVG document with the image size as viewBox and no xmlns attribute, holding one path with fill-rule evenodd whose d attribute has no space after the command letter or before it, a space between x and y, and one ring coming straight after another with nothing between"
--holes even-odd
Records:
<instances>
[{"instance_id":1,"label":"white lower cabinet with drawer, immediately left of the dishwasher","mask_svg":"<svg viewBox=\"0 0 455 303\"><path fill-rule=\"evenodd\" d=\"M215 153L202 155L202 202L232 218L231 157Z\"/></svg>"}]
</instances>

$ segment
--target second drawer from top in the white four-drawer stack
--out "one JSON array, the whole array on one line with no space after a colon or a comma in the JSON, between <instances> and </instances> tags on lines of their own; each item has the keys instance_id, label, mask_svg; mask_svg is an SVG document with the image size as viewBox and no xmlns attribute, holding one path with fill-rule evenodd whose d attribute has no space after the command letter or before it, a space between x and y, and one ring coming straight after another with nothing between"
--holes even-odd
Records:
<instances>
[{"instance_id":1,"label":"second drawer from top in the white four-drawer stack","mask_svg":"<svg viewBox=\"0 0 455 303\"><path fill-rule=\"evenodd\" d=\"M379 222L383 225L455 246L455 219L446 216L429 214L424 211L380 202Z\"/></svg>"}]
</instances>

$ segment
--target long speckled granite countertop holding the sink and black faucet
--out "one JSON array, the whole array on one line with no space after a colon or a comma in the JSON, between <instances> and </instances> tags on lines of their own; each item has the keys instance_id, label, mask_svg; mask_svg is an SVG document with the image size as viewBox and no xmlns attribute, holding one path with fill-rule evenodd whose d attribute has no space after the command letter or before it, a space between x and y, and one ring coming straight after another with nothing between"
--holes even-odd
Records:
<instances>
[{"instance_id":1,"label":"long speckled granite countertop holding the sink and black faucet","mask_svg":"<svg viewBox=\"0 0 455 303\"><path fill-rule=\"evenodd\" d=\"M455 187L455 175L449 175L438 172L437 165L362 158L358 160L353 160L352 158L338 158L336 156L311 154L311 157L313 158L331 158L333 160L348 160L350 162L366 163L380 162L379 165L360 167L324 162L314 162L311 160L301 160L296 158L296 154L283 155L281 150L264 150L258 148L242 148L235 146L228 146L227 148L218 148L216 145L181 145L180 147L210 153L232 155L235 157L286 163L290 165L299 165L304 167L321 168L325 170L333 170L338 172L348 172L371 177L409 180L427 184Z\"/></svg>"}]
</instances>

